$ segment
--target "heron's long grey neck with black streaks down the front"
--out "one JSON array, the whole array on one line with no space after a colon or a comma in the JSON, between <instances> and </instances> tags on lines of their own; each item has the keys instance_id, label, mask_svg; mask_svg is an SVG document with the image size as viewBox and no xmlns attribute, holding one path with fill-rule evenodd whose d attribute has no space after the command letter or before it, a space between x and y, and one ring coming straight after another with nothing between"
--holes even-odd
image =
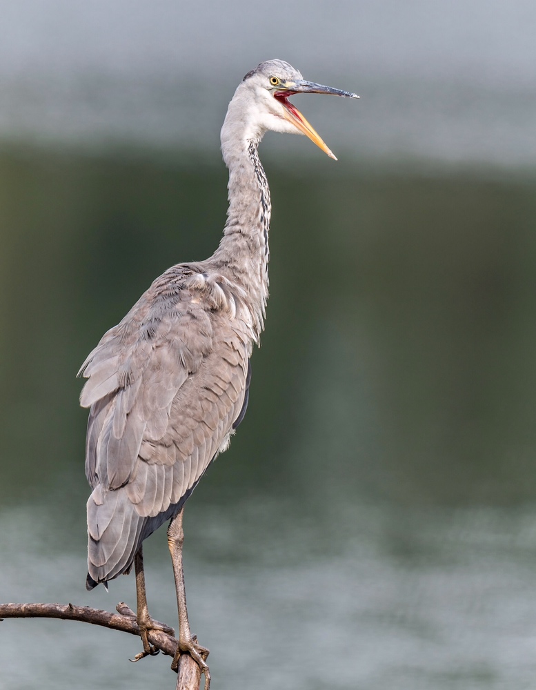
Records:
<instances>
[{"instance_id":1,"label":"heron's long grey neck with black streaks down the front","mask_svg":"<svg viewBox=\"0 0 536 690\"><path fill-rule=\"evenodd\" d=\"M257 146L260 136L246 139L244 127L226 119L222 150L229 168L229 208L224 236L212 255L212 264L248 293L250 310L259 332L268 299L268 230L270 189ZM257 334L258 335L258 334Z\"/></svg>"}]
</instances>

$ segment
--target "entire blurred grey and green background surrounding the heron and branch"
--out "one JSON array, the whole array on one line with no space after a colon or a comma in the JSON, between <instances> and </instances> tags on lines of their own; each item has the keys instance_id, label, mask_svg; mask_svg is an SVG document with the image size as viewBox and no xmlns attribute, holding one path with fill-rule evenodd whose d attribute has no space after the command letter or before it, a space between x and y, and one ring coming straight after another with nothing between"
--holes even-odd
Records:
<instances>
[{"instance_id":1,"label":"entire blurred grey and green background surrounding the heron and branch","mask_svg":"<svg viewBox=\"0 0 536 690\"><path fill-rule=\"evenodd\" d=\"M279 57L361 100L295 99L337 164L261 146L266 333L185 514L214 687L535 686L535 30L532 0L0 1L0 600L135 604L84 589L75 374L217 246L226 106ZM175 624L163 529L146 572ZM139 648L9 620L0 687L174 688Z\"/></svg>"}]
</instances>

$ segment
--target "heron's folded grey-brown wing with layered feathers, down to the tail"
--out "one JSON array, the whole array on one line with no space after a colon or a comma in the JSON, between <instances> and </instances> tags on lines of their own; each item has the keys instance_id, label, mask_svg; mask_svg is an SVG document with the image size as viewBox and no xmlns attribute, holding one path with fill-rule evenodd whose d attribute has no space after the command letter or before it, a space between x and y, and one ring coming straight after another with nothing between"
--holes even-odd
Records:
<instances>
[{"instance_id":1,"label":"heron's folded grey-brown wing with layered feathers, down to the tail","mask_svg":"<svg viewBox=\"0 0 536 690\"><path fill-rule=\"evenodd\" d=\"M92 586L128 571L141 540L177 512L246 397L249 353L225 318L186 290L171 307L139 304L81 369Z\"/></svg>"}]
</instances>

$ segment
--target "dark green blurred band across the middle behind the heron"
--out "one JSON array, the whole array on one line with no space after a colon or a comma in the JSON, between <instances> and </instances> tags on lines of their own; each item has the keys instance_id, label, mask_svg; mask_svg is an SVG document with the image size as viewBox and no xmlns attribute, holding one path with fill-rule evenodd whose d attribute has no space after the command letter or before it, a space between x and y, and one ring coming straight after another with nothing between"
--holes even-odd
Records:
<instances>
[{"instance_id":1,"label":"dark green blurred band across the middle behind the heron","mask_svg":"<svg viewBox=\"0 0 536 690\"><path fill-rule=\"evenodd\" d=\"M198 499L534 500L535 181L266 168L267 330L246 423ZM88 493L75 373L152 279L212 253L226 179L193 153L0 153L7 500Z\"/></svg>"}]
</instances>

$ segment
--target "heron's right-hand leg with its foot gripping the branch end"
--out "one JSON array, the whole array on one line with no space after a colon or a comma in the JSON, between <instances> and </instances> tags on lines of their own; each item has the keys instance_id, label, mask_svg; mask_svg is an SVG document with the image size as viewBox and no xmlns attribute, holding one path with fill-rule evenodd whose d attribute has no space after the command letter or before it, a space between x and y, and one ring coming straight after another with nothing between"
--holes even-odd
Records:
<instances>
[{"instance_id":1,"label":"heron's right-hand leg with its foot gripping the branch end","mask_svg":"<svg viewBox=\"0 0 536 690\"><path fill-rule=\"evenodd\" d=\"M186 610L186 589L184 588L184 573L182 570L182 545L184 532L182 529L183 508L171 520L168 527L168 545L175 575L175 589L177 590L177 610L179 612L179 647L173 657L171 668L177 671L181 652L188 652L197 662L201 671L205 674L205 690L210 688L210 672L206 664L208 649L201 647L195 635L190 632L188 611Z\"/></svg>"}]
</instances>

